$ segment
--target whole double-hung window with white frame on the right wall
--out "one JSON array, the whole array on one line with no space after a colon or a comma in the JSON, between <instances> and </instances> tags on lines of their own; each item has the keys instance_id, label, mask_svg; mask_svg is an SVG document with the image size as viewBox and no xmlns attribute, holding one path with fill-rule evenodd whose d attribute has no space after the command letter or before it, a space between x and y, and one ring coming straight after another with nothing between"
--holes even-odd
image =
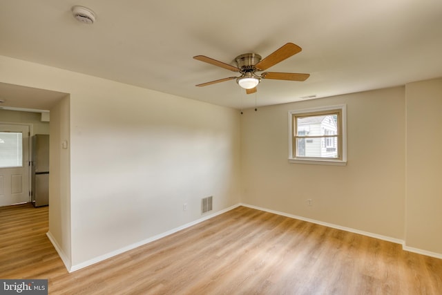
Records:
<instances>
[{"instance_id":1,"label":"whole double-hung window with white frame on the right wall","mask_svg":"<svg viewBox=\"0 0 442 295\"><path fill-rule=\"evenodd\" d=\"M289 111L289 162L345 165L345 105Z\"/></svg>"}]
</instances>

